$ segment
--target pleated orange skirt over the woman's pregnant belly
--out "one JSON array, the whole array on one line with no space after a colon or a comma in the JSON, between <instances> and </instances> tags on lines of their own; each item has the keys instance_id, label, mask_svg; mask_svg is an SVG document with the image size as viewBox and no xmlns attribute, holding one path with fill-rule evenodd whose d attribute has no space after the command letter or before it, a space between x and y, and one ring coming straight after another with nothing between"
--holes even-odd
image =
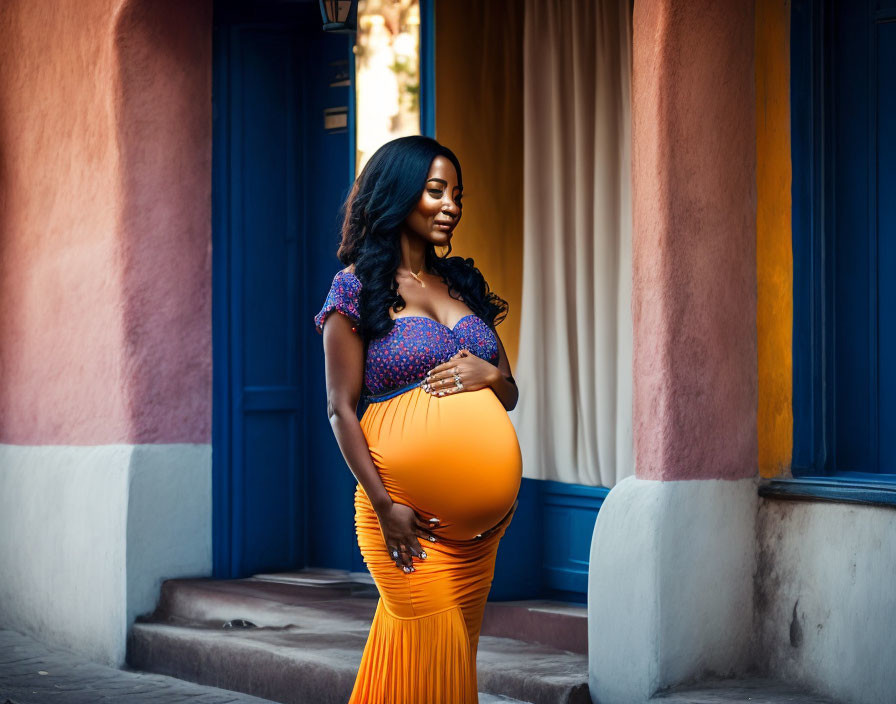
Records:
<instances>
[{"instance_id":1,"label":"pleated orange skirt over the woman's pregnant belly","mask_svg":"<svg viewBox=\"0 0 896 704\"><path fill-rule=\"evenodd\" d=\"M371 403L361 428L392 499L440 527L405 573L357 485L358 544L380 598L349 704L476 704L482 615L522 478L514 427L490 388L437 397L414 387Z\"/></svg>"}]
</instances>

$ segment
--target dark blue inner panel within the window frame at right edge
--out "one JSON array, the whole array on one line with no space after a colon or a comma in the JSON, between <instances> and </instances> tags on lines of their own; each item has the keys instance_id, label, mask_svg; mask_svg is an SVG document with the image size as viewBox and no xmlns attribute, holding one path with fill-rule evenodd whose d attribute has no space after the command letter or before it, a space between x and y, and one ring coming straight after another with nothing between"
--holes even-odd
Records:
<instances>
[{"instance_id":1,"label":"dark blue inner panel within the window frame at right edge","mask_svg":"<svg viewBox=\"0 0 896 704\"><path fill-rule=\"evenodd\" d=\"M896 1L828 19L828 471L896 473Z\"/></svg>"}]
</instances>

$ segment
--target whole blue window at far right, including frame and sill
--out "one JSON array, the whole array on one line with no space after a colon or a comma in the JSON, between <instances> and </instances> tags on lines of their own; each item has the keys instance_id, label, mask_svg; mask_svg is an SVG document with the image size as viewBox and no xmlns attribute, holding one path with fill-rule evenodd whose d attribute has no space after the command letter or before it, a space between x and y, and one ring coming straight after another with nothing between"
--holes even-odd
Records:
<instances>
[{"instance_id":1,"label":"whole blue window at far right, including frame and sill","mask_svg":"<svg viewBox=\"0 0 896 704\"><path fill-rule=\"evenodd\" d=\"M782 494L896 504L896 0L791 14L792 473ZM769 491L768 487L766 491Z\"/></svg>"}]
</instances>

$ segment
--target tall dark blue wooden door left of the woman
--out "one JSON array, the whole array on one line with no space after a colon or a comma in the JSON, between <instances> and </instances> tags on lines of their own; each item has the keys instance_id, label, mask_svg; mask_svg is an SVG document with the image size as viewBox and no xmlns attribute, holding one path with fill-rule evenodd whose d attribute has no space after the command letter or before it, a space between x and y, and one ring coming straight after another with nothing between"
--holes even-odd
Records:
<instances>
[{"instance_id":1,"label":"tall dark blue wooden door left of the woman","mask_svg":"<svg viewBox=\"0 0 896 704\"><path fill-rule=\"evenodd\" d=\"M350 184L351 42L317 3L219 3L214 66L214 573L349 568L350 473L334 456L312 316ZM320 383L318 383L320 382Z\"/></svg>"}]
</instances>

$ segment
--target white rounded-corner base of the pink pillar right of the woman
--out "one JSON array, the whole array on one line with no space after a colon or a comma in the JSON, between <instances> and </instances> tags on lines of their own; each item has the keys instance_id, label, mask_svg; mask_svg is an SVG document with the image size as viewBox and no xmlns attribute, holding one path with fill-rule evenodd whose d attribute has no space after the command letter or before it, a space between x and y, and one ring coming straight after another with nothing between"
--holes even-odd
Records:
<instances>
[{"instance_id":1,"label":"white rounded-corner base of the pink pillar right of the woman","mask_svg":"<svg viewBox=\"0 0 896 704\"><path fill-rule=\"evenodd\" d=\"M751 662L757 481L629 477L604 501L591 544L594 702L657 691Z\"/></svg>"}]
</instances>

